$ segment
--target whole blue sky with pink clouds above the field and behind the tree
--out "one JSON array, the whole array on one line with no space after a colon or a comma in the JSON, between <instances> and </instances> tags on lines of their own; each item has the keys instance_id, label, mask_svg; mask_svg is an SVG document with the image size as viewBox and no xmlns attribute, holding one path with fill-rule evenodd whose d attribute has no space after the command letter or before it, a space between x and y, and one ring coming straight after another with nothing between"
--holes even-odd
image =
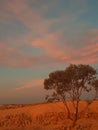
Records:
<instances>
[{"instance_id":1,"label":"whole blue sky with pink clouds above the field and behind the tree","mask_svg":"<svg viewBox=\"0 0 98 130\"><path fill-rule=\"evenodd\" d=\"M0 0L0 104L44 102L69 64L98 68L98 0Z\"/></svg>"}]
</instances>

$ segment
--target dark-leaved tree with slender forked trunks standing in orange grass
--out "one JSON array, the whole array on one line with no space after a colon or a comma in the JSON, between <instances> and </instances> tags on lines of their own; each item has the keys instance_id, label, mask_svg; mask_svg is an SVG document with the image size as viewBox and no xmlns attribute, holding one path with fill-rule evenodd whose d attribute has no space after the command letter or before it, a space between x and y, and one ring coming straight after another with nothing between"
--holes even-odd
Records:
<instances>
[{"instance_id":1,"label":"dark-leaved tree with slender forked trunks standing in orange grass","mask_svg":"<svg viewBox=\"0 0 98 130\"><path fill-rule=\"evenodd\" d=\"M89 65L71 64L65 70L50 73L49 78L44 80L44 88L46 90L54 90L52 94L53 98L51 99L56 100L59 98L67 110L68 118L75 123L79 118L79 103L82 95L85 92L90 93L95 89L95 97L97 97L98 80L96 74L96 70ZM71 116L70 108L67 104L68 97L75 110L74 117ZM93 101L95 97L92 98L91 101ZM88 105L90 103L88 103ZM82 112L83 111L81 111L81 113Z\"/></svg>"}]
</instances>

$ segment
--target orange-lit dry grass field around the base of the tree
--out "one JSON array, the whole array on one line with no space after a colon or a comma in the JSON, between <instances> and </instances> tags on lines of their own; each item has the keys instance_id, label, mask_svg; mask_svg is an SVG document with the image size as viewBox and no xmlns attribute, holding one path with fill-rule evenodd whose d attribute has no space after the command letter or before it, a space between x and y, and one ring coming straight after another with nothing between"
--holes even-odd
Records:
<instances>
[{"instance_id":1,"label":"orange-lit dry grass field around the base of the tree","mask_svg":"<svg viewBox=\"0 0 98 130\"><path fill-rule=\"evenodd\" d=\"M70 101L68 102L74 113ZM81 101L79 111L86 106ZM72 128L62 102L35 105L1 105L0 130L98 130L98 101L94 101Z\"/></svg>"}]
</instances>

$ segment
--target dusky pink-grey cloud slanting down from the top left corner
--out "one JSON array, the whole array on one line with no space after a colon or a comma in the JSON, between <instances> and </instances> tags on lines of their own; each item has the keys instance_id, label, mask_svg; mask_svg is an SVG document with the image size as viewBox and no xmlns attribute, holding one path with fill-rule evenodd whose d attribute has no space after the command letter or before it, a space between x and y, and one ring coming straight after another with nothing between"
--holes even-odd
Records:
<instances>
[{"instance_id":1,"label":"dusky pink-grey cloud slanting down from the top left corner","mask_svg":"<svg viewBox=\"0 0 98 130\"><path fill-rule=\"evenodd\" d=\"M36 1L32 2L38 3ZM55 3L53 1L52 6L56 6L57 3L59 4L59 2L56 1ZM3 8L5 11L2 13L3 15L0 13L1 18L19 20L36 34L46 34L55 24L68 25L77 19L77 14L63 14L63 12L57 18L46 19L44 14L48 11L47 5L41 3L39 8L31 8L26 0L13 0L11 2L6 0L6 2L3 2Z\"/></svg>"}]
</instances>

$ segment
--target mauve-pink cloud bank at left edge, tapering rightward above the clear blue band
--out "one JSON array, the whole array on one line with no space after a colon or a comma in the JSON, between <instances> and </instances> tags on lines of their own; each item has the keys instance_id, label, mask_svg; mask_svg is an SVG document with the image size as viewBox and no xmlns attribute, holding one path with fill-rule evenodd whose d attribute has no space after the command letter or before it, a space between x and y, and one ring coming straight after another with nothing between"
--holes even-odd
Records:
<instances>
[{"instance_id":1,"label":"mauve-pink cloud bank at left edge, tapering rightward above the clear blue band","mask_svg":"<svg viewBox=\"0 0 98 130\"><path fill-rule=\"evenodd\" d=\"M33 55L21 50L19 47L9 47L0 44L0 65L9 68L36 68L48 67L56 64L57 59L50 55Z\"/></svg>"}]
</instances>

